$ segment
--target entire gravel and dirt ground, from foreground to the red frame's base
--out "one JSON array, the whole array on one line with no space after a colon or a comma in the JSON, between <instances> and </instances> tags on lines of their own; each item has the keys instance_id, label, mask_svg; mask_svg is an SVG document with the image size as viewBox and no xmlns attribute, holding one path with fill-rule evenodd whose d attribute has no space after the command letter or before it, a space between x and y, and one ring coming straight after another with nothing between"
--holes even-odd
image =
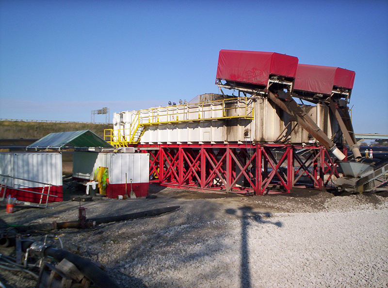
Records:
<instances>
[{"instance_id":1,"label":"entire gravel and dirt ground, from foreground to the red frame's base","mask_svg":"<svg viewBox=\"0 0 388 288\"><path fill-rule=\"evenodd\" d=\"M89 218L180 205L159 217L58 231L64 249L124 287L388 287L388 198L327 192L245 197L154 189L156 199L83 202ZM78 202L0 206L9 224L71 221ZM3 253L0 251L0 253ZM9 287L34 287L0 268Z\"/></svg>"}]
</instances>

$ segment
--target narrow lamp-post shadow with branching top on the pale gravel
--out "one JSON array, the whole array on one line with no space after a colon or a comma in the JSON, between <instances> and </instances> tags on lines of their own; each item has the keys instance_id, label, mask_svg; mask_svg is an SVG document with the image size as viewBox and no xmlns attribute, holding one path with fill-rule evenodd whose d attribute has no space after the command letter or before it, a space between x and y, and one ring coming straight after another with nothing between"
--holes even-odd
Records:
<instances>
[{"instance_id":1,"label":"narrow lamp-post shadow with branching top on the pale gravel","mask_svg":"<svg viewBox=\"0 0 388 288\"><path fill-rule=\"evenodd\" d=\"M282 227L281 222L272 222L265 220L270 218L271 213L259 213L252 211L252 207L244 206L240 207L241 211L241 266L240 266L240 279L241 288L251 288L251 272L249 269L249 250L248 250L248 226L250 221L254 221L260 224L274 224L278 227ZM238 210L226 209L226 213L238 216Z\"/></svg>"}]
</instances>

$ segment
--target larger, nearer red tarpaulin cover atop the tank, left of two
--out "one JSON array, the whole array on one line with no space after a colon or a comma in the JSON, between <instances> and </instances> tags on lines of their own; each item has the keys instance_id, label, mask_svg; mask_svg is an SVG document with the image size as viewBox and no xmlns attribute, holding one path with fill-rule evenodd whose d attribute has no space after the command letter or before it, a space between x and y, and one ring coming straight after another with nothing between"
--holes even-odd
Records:
<instances>
[{"instance_id":1,"label":"larger, nearer red tarpaulin cover atop the tank, left of two","mask_svg":"<svg viewBox=\"0 0 388 288\"><path fill-rule=\"evenodd\" d=\"M267 86L269 75L295 78L298 58L275 52L221 50L217 79Z\"/></svg>"}]
</instances>

